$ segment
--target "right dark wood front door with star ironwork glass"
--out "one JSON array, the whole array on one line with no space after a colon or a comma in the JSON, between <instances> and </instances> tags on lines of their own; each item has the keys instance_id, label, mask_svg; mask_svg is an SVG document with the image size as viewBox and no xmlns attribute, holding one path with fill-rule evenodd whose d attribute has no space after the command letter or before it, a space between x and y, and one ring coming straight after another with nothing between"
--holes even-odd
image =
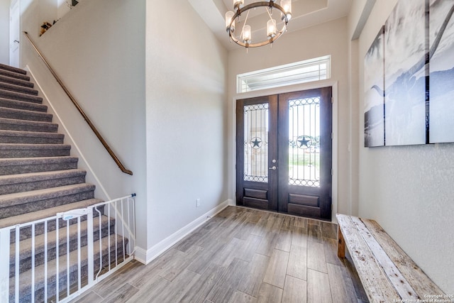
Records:
<instances>
[{"instance_id":1,"label":"right dark wood front door with star ironwork glass","mask_svg":"<svg viewBox=\"0 0 454 303\"><path fill-rule=\"evenodd\" d=\"M331 87L279 95L279 211L331 220Z\"/></svg>"}]
</instances>

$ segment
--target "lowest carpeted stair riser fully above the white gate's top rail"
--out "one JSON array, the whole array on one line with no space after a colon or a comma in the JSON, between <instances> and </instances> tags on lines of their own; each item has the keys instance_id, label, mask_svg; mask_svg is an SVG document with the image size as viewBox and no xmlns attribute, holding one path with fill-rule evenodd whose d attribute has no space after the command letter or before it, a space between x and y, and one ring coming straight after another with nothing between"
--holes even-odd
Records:
<instances>
[{"instance_id":1,"label":"lowest carpeted stair riser fully above the white gate's top rail","mask_svg":"<svg viewBox=\"0 0 454 303\"><path fill-rule=\"evenodd\" d=\"M69 204L81 200L93 199L94 190L89 192L79 192L77 194L69 194L62 197L55 197L52 199L45 199L40 201L30 201L23 204L16 204L11 206L2 207L0 209L0 219L8 218L9 216L18 216L26 214L31 211L39 211L40 209L49 209L51 207ZM0 205L1 207L1 205Z\"/></svg>"}]
</instances>

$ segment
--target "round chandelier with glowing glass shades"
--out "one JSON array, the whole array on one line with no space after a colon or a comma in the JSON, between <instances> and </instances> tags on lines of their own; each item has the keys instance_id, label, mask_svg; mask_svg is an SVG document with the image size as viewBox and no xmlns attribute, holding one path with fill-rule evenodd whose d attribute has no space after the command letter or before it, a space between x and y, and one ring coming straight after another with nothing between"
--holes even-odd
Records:
<instances>
[{"instance_id":1,"label":"round chandelier with glowing glass shades","mask_svg":"<svg viewBox=\"0 0 454 303\"><path fill-rule=\"evenodd\" d=\"M292 18L292 0L280 0L280 5L275 3L275 0L253 2L246 6L244 0L233 0L233 7L235 11L228 11L226 13L226 31L236 44L245 48L258 48L259 46L271 44L275 42L283 33L287 31L287 23ZM257 43L253 43L251 26L247 24L248 17L251 9L264 7L269 17L266 23L266 36ZM276 20L272 18L272 9L277 9L280 12L281 21L283 23L280 30L277 30ZM241 32L238 36L234 35L235 21L240 23L240 16L246 13L245 21L241 27Z\"/></svg>"}]
</instances>

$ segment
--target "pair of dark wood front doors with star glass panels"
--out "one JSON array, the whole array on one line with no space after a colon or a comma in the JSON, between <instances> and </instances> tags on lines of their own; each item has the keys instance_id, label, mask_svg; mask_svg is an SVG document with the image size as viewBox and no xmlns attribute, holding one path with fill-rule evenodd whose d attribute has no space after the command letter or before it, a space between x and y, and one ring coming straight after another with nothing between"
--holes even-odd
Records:
<instances>
[{"instance_id":1,"label":"pair of dark wood front doors with star glass panels","mask_svg":"<svg viewBox=\"0 0 454 303\"><path fill-rule=\"evenodd\" d=\"M331 87L236 104L236 203L331 220Z\"/></svg>"}]
</instances>

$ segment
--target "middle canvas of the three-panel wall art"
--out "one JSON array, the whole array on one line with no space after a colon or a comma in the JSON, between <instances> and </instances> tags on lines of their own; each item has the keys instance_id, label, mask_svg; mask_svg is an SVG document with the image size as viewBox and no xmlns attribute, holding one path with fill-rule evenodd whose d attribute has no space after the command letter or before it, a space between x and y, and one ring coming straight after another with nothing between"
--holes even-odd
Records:
<instances>
[{"instance_id":1,"label":"middle canvas of the three-panel wall art","mask_svg":"<svg viewBox=\"0 0 454 303\"><path fill-rule=\"evenodd\" d=\"M386 145L426 143L425 0L400 0L385 23Z\"/></svg>"}]
</instances>

